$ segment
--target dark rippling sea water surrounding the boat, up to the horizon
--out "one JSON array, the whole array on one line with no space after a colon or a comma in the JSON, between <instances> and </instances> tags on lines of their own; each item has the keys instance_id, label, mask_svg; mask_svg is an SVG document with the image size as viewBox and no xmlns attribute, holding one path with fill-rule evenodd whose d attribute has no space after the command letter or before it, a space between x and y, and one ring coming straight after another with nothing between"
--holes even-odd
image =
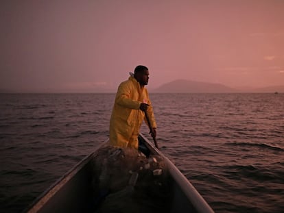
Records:
<instances>
[{"instance_id":1,"label":"dark rippling sea water surrounding the boat, up to the horizon","mask_svg":"<svg viewBox=\"0 0 284 213\"><path fill-rule=\"evenodd\" d=\"M0 211L21 212L105 141L114 98L1 94ZM284 94L151 98L161 151L215 212L284 211Z\"/></svg>"}]
</instances>

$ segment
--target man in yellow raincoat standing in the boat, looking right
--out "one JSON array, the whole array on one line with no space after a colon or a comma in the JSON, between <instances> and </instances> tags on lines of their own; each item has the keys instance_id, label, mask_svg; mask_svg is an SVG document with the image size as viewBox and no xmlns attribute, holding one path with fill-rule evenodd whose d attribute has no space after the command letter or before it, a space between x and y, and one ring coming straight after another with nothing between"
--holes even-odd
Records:
<instances>
[{"instance_id":1,"label":"man in yellow raincoat standing in the boat, looking right","mask_svg":"<svg viewBox=\"0 0 284 213\"><path fill-rule=\"evenodd\" d=\"M156 121L152 103L145 88L148 80L148 68L139 65L134 69L134 75L130 73L128 80L119 85L110 118L111 145L138 149L139 131L145 120L144 111L148 114L153 129L152 137L156 138Z\"/></svg>"}]
</instances>

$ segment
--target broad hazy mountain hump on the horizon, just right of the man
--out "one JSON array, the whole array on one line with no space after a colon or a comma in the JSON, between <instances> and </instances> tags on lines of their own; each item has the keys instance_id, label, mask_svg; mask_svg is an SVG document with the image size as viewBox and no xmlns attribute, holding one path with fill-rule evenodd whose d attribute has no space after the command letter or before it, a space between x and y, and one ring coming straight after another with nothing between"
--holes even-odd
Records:
<instances>
[{"instance_id":1,"label":"broad hazy mountain hump on the horizon, just right of the man","mask_svg":"<svg viewBox=\"0 0 284 213\"><path fill-rule=\"evenodd\" d=\"M174 82L163 84L152 90L152 92L165 93L229 93L239 92L234 88L224 86L223 84L213 84L206 82L194 82L189 80L178 79Z\"/></svg>"}]
</instances>

